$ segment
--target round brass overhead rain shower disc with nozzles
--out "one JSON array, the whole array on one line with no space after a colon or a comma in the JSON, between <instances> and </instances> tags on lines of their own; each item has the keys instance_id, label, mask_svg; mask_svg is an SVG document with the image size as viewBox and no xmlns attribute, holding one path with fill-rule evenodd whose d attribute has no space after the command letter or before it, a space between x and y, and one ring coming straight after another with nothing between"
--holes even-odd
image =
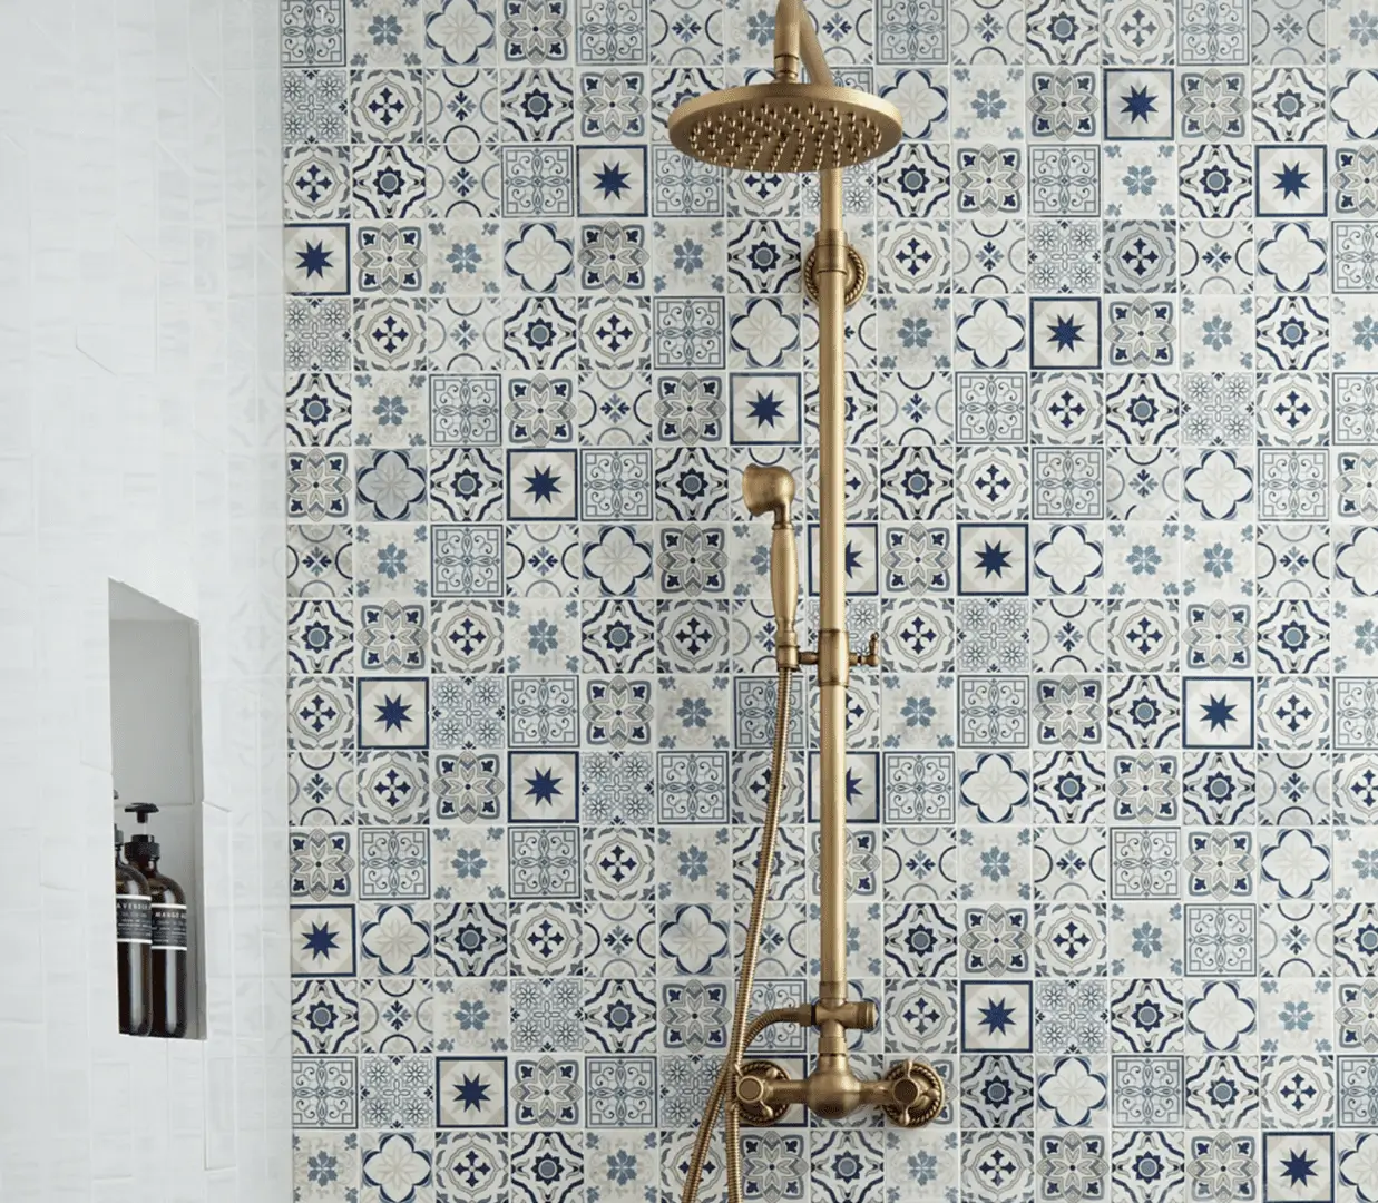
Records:
<instances>
[{"instance_id":1,"label":"round brass overhead rain shower disc with nozzles","mask_svg":"<svg viewBox=\"0 0 1378 1203\"><path fill-rule=\"evenodd\" d=\"M692 158L737 171L827 171L894 149L898 110L857 88L747 84L686 101L670 141Z\"/></svg>"}]
</instances>

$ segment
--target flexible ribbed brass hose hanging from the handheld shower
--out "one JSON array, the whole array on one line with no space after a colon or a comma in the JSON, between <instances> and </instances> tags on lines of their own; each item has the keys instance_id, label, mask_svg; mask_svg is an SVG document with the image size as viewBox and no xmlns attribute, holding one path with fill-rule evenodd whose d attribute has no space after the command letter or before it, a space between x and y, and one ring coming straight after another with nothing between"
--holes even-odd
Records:
<instances>
[{"instance_id":1,"label":"flexible ribbed brass hose hanging from the handheld shower","mask_svg":"<svg viewBox=\"0 0 1378 1203\"><path fill-rule=\"evenodd\" d=\"M732 1016L732 1040L723 1058L718 1080L712 1086L703 1120L695 1138L693 1155L685 1173L681 1203L695 1203L703 1163L708 1156L708 1142L718 1119L718 1108L726 1100L726 1171L728 1203L741 1203L741 1111L737 1107L737 1073L747 1047L772 1024L798 1022L798 1013L788 1009L765 1011L747 1022L751 989L757 977L757 954L761 927L765 923L766 900L770 894L770 867L774 861L776 834L780 828L780 799L784 794L784 758L790 740L790 670L781 668L776 681L776 729L770 748L770 788L766 791L766 814L761 831L761 856L757 860L757 885L751 896L751 921L747 923L747 943L741 949L741 976L737 978L737 1009Z\"/></svg>"}]
</instances>

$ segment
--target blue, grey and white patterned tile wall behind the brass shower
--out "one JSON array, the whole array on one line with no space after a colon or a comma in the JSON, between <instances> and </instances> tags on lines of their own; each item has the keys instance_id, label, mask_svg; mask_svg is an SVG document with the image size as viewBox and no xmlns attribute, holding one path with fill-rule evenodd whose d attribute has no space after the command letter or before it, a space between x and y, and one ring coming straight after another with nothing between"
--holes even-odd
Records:
<instances>
[{"instance_id":1,"label":"blue, grey and white patterned tile wall behind the brass shower","mask_svg":"<svg viewBox=\"0 0 1378 1203\"><path fill-rule=\"evenodd\" d=\"M752 1133L751 1197L1378 1199L1378 10L812 8L905 125L846 186L858 1058L954 1091ZM299 1199L678 1191L817 190L666 119L772 12L284 0ZM761 1006L816 969L801 686Z\"/></svg>"}]
</instances>

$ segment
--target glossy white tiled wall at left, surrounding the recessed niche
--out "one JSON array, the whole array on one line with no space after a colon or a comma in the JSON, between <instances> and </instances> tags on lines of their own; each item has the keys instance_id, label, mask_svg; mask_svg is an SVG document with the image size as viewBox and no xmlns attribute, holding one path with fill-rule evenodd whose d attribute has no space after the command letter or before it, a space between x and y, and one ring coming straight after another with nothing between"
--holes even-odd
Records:
<instances>
[{"instance_id":1,"label":"glossy white tiled wall at left, surrounding the recessed niche","mask_svg":"<svg viewBox=\"0 0 1378 1203\"><path fill-rule=\"evenodd\" d=\"M0 1199L288 1197L274 0L0 4ZM114 1031L107 586L201 624L205 1042Z\"/></svg>"}]
</instances>

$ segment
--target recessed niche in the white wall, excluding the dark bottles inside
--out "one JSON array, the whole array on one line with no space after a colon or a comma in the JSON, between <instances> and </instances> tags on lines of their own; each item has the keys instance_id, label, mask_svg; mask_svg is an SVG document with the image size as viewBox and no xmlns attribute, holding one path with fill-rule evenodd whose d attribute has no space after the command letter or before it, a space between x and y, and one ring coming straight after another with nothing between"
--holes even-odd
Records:
<instances>
[{"instance_id":1,"label":"recessed niche in the white wall, excluding the dark bottles inside","mask_svg":"<svg viewBox=\"0 0 1378 1203\"><path fill-rule=\"evenodd\" d=\"M114 823L125 841L157 839L158 868L186 892L187 1025L205 1038L205 905L201 864L200 624L121 582L110 582L110 752ZM143 828L125 806L158 808ZM112 1006L112 1017L114 1009Z\"/></svg>"}]
</instances>

